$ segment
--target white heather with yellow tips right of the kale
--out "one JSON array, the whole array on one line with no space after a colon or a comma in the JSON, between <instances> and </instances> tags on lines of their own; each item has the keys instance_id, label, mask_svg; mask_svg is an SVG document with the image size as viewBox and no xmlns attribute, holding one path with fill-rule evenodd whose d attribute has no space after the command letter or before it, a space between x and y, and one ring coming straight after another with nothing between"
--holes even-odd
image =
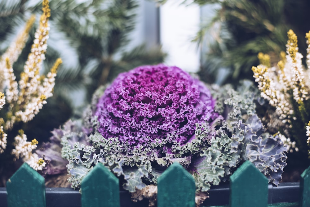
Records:
<instances>
[{"instance_id":1,"label":"white heather with yellow tips right of the kale","mask_svg":"<svg viewBox=\"0 0 310 207\"><path fill-rule=\"evenodd\" d=\"M288 31L287 37L286 55L280 55L281 61L277 65L270 65L270 57L260 53L260 65L253 66L252 70L261 96L274 107L274 112L267 113L270 120L279 120L269 123L270 128L279 130L284 142L291 147L290 151L294 148L306 153L308 135L300 132L306 132L310 120L307 110L310 106L310 70L306 70L310 63L310 35L306 34L307 67L302 64L303 55L298 51L297 36L293 30ZM269 119L266 120L268 122Z\"/></svg>"}]
</instances>

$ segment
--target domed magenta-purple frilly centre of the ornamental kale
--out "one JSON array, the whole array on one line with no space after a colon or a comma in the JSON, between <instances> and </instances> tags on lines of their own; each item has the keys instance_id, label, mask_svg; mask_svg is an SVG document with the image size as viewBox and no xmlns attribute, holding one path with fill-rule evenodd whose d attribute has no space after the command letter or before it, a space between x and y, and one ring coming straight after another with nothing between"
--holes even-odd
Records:
<instances>
[{"instance_id":1,"label":"domed magenta-purple frilly centre of the ornamental kale","mask_svg":"<svg viewBox=\"0 0 310 207\"><path fill-rule=\"evenodd\" d=\"M105 138L118 137L131 146L155 139L185 144L195 135L196 123L217 117L214 104L198 79L160 64L119 74L99 99L95 115Z\"/></svg>"}]
</instances>

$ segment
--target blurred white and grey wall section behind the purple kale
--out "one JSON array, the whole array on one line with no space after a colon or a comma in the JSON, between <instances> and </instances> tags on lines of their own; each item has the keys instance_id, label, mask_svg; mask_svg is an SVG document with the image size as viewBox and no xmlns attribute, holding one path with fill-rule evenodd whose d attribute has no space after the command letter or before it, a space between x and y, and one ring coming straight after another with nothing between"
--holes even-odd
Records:
<instances>
[{"instance_id":1,"label":"blurred white and grey wall section behind the purple kale","mask_svg":"<svg viewBox=\"0 0 310 207\"><path fill-rule=\"evenodd\" d=\"M139 0L136 27L129 35L126 51L145 43L148 48L162 44L168 54L166 65L176 65L188 72L197 72L200 66L200 51L197 43L191 42L199 29L200 8L191 0L168 0L157 7L154 1Z\"/></svg>"}]
</instances>

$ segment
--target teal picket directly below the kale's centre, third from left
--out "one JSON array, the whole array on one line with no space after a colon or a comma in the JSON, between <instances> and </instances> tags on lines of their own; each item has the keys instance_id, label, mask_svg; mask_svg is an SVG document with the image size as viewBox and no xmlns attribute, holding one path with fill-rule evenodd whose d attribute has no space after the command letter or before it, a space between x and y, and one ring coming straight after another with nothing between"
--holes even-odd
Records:
<instances>
[{"instance_id":1,"label":"teal picket directly below the kale's centre, third from left","mask_svg":"<svg viewBox=\"0 0 310 207\"><path fill-rule=\"evenodd\" d=\"M195 181L179 163L169 166L158 178L158 207L195 207Z\"/></svg>"}]
</instances>

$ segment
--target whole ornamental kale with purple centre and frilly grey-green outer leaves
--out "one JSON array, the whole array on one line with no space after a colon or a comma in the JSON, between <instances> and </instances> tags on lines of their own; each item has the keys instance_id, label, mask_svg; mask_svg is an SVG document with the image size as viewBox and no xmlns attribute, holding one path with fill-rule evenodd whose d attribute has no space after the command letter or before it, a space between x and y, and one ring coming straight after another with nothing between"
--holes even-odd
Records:
<instances>
[{"instance_id":1,"label":"whole ornamental kale with purple centre and frilly grey-green outer leaves","mask_svg":"<svg viewBox=\"0 0 310 207\"><path fill-rule=\"evenodd\" d=\"M173 162L193 174L197 192L227 180L245 160L277 185L286 147L255 114L260 100L250 82L207 87L177 67L141 66L99 88L81 120L53 133L73 188L98 162L130 192L156 185Z\"/></svg>"}]
</instances>

